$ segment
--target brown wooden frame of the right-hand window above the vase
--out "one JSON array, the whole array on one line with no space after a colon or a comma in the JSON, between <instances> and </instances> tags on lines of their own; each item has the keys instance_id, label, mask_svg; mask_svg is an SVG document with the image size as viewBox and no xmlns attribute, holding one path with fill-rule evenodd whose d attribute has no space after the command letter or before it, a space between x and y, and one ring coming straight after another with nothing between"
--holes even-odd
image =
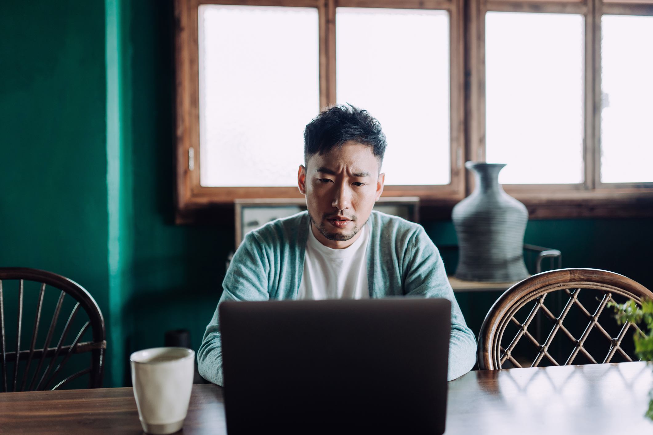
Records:
<instances>
[{"instance_id":1,"label":"brown wooden frame of the right-hand window above the vase","mask_svg":"<svg viewBox=\"0 0 653 435\"><path fill-rule=\"evenodd\" d=\"M650 1L650 0L648 0ZM485 14L531 12L581 14L584 41L584 181L579 184L503 185L528 207L531 217L650 217L653 183L601 183L601 15L653 15L653 4L602 0L471 0L466 11L466 55L470 78L466 115L467 155L485 161ZM473 178L468 174L468 193Z\"/></svg>"}]
</instances>

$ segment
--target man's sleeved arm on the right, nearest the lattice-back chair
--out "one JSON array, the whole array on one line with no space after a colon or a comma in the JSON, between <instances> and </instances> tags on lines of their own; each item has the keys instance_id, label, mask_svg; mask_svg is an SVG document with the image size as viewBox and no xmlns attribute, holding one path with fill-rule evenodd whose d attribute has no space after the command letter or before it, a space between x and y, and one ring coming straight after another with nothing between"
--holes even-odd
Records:
<instances>
[{"instance_id":1,"label":"man's sleeved arm on the right, nearest the lattice-back chair","mask_svg":"<svg viewBox=\"0 0 653 435\"><path fill-rule=\"evenodd\" d=\"M445 297L451 301L451 338L449 339L449 373L453 380L471 370L476 363L476 339L467 327L454 297L438 248L419 227L409 239L404 257L406 295Z\"/></svg>"}]
</instances>

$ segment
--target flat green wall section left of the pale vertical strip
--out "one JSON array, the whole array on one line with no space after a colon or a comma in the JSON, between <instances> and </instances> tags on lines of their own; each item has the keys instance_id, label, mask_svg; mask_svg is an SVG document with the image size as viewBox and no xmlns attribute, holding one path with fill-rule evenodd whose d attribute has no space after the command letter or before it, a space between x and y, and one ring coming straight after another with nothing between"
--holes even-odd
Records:
<instances>
[{"instance_id":1,"label":"flat green wall section left of the pale vertical strip","mask_svg":"<svg viewBox=\"0 0 653 435\"><path fill-rule=\"evenodd\" d=\"M93 293L106 319L103 3L2 2L0 64L0 265L70 277ZM17 297L5 289L14 350ZM31 333L36 299L28 290L24 328ZM46 292L41 331L52 315L49 296L57 297ZM23 349L29 338L24 332Z\"/></svg>"}]
</instances>

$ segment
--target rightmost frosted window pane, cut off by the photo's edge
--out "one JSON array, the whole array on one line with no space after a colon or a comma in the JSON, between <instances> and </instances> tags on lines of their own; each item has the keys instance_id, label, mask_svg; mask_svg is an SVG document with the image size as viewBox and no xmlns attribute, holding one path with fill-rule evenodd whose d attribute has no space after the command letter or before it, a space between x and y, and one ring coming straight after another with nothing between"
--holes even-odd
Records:
<instances>
[{"instance_id":1,"label":"rightmost frosted window pane, cut off by the photo's edge","mask_svg":"<svg viewBox=\"0 0 653 435\"><path fill-rule=\"evenodd\" d=\"M601 181L653 181L653 17L601 18Z\"/></svg>"}]
</instances>

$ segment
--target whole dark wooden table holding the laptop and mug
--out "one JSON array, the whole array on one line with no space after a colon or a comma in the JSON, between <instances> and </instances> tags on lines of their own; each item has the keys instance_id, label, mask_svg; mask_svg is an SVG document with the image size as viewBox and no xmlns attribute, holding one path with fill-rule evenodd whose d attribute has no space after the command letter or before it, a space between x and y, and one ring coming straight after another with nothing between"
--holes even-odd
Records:
<instances>
[{"instance_id":1,"label":"whole dark wooden table holding the laptop and mug","mask_svg":"<svg viewBox=\"0 0 653 435\"><path fill-rule=\"evenodd\" d=\"M447 434L650 434L645 363L469 372L449 383ZM140 434L131 388L0 394L0 433ZM179 432L182 433L182 432ZM194 385L183 434L224 434L222 389Z\"/></svg>"}]
</instances>

